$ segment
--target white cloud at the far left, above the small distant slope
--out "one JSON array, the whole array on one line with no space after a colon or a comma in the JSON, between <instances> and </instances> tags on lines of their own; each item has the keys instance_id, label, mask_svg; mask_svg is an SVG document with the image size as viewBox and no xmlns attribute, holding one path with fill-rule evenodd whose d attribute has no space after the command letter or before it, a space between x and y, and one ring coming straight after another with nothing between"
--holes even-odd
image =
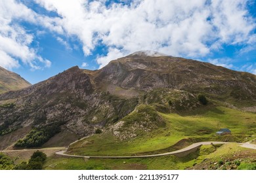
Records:
<instances>
[{"instance_id":1,"label":"white cloud at the far left, above the small distant slope","mask_svg":"<svg viewBox=\"0 0 256 183\"><path fill-rule=\"evenodd\" d=\"M30 8L14 0L2 0L0 6L0 65L7 69L20 66L20 61L32 69L51 67L51 61L43 59L32 48L34 39L20 22L43 24L49 29L61 32L51 24L55 20L36 14Z\"/></svg>"}]
</instances>

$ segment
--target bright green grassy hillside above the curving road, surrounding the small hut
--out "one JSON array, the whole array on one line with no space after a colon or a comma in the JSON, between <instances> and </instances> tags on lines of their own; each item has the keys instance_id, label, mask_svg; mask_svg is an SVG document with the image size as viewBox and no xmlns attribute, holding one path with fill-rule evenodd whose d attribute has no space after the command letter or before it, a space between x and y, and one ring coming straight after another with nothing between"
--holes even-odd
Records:
<instances>
[{"instance_id":1,"label":"bright green grassy hillside above the curving road, surrounding the small hut","mask_svg":"<svg viewBox=\"0 0 256 183\"><path fill-rule=\"evenodd\" d=\"M256 135L256 114L226 107L211 107L194 114L163 114L165 126L131 139L112 133L96 134L70 145L68 153L88 156L124 156L168 152L198 141L245 142ZM232 135L216 136L221 128ZM182 140L183 139L183 140ZM182 141L181 141L182 140Z\"/></svg>"}]
</instances>

